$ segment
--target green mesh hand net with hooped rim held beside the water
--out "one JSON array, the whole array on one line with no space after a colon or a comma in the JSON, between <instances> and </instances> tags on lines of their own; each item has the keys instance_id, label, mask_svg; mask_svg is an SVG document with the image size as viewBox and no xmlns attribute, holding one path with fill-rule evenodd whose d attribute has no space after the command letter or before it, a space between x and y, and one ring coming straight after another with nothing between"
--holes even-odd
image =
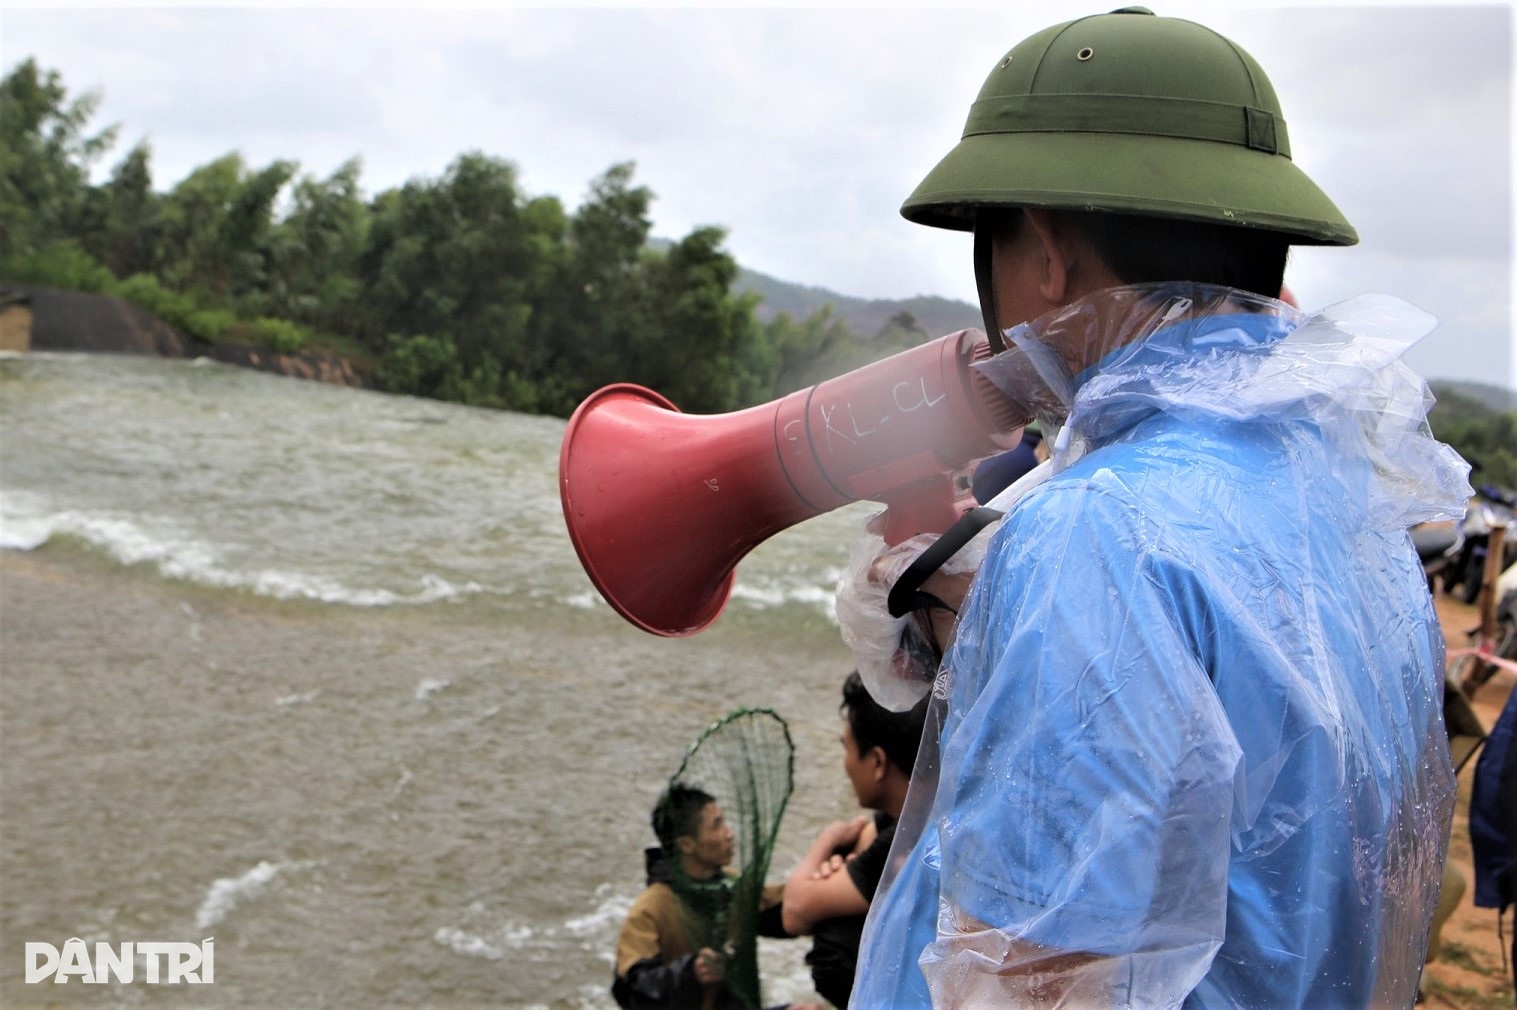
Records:
<instances>
[{"instance_id":1,"label":"green mesh hand net with hooped rim held beside the water","mask_svg":"<svg viewBox=\"0 0 1517 1010\"><path fill-rule=\"evenodd\" d=\"M739 708L705 728L669 778L669 789L699 789L727 816L736 852L725 880L696 881L671 858L671 886L689 914L693 949L725 954L727 986L760 1010L758 911L780 819L790 799L795 745L784 719L768 708Z\"/></svg>"}]
</instances>

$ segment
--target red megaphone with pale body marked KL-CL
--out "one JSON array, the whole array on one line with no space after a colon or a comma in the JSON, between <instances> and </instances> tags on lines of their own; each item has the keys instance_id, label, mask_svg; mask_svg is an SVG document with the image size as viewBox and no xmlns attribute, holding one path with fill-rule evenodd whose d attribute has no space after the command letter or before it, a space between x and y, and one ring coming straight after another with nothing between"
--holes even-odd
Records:
<instances>
[{"instance_id":1,"label":"red megaphone with pale body marked KL-CL","mask_svg":"<svg viewBox=\"0 0 1517 1010\"><path fill-rule=\"evenodd\" d=\"M804 519L874 499L887 543L948 529L974 505L963 467L1025 422L969 369L989 355L965 329L731 414L633 384L590 394L558 456L586 573L631 623L683 637L722 613L749 550Z\"/></svg>"}]
</instances>

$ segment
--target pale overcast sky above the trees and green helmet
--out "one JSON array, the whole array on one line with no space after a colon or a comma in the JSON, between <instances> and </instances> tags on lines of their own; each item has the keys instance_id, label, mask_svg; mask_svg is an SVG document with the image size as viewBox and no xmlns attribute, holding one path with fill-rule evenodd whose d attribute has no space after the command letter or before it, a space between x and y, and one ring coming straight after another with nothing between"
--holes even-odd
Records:
<instances>
[{"instance_id":1,"label":"pale overcast sky above the trees and green helmet","mask_svg":"<svg viewBox=\"0 0 1517 1010\"><path fill-rule=\"evenodd\" d=\"M860 297L974 302L969 240L901 200L954 144L994 64L1032 32L1110 9L1068 0L951 11L692 6L61 8L8 0L0 70L35 58L141 140L171 188L232 150L367 194L435 179L463 152L514 162L576 206L620 161L654 234L702 224L752 270ZM1300 250L1306 308L1387 291L1434 312L1429 379L1517 388L1508 3L1150 3L1209 24L1268 71L1302 165L1358 227Z\"/></svg>"}]
</instances>

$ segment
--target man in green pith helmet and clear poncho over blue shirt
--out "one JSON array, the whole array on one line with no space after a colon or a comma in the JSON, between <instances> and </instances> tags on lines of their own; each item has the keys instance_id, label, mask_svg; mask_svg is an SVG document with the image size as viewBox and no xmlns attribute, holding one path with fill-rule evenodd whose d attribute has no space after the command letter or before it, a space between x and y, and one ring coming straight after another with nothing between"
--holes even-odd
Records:
<instances>
[{"instance_id":1,"label":"man in green pith helmet and clear poncho over blue shirt","mask_svg":"<svg viewBox=\"0 0 1517 1010\"><path fill-rule=\"evenodd\" d=\"M1012 49L903 214L974 232L1053 458L997 502L854 1005L1409 1005L1453 772L1406 528L1468 494L1399 361L1432 320L1277 300L1356 235L1264 70L1141 8Z\"/></svg>"}]
</instances>

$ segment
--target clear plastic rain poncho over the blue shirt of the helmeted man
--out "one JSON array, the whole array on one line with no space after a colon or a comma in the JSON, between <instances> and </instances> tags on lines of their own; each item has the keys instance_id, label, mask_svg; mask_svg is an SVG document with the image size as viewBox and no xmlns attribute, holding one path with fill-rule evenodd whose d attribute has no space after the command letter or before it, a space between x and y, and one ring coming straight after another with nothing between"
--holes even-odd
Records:
<instances>
[{"instance_id":1,"label":"clear plastic rain poncho over the blue shirt of the helmeted man","mask_svg":"<svg viewBox=\"0 0 1517 1010\"><path fill-rule=\"evenodd\" d=\"M1432 326L1167 285L1007 332L1053 476L960 610L856 1005L1411 1005L1455 781L1406 528L1468 497Z\"/></svg>"}]
</instances>

